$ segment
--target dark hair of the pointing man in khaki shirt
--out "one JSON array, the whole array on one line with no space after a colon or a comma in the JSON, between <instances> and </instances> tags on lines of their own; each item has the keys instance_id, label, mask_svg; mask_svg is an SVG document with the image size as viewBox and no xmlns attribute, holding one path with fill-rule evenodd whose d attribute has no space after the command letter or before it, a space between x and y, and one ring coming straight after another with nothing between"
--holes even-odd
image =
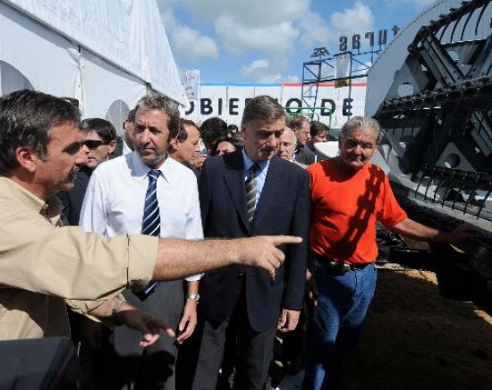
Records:
<instances>
[{"instance_id":1,"label":"dark hair of the pointing man in khaki shirt","mask_svg":"<svg viewBox=\"0 0 492 390\"><path fill-rule=\"evenodd\" d=\"M32 148L46 159L51 129L72 122L77 127L81 112L59 97L22 89L0 97L0 174L19 166L15 149Z\"/></svg>"}]
</instances>

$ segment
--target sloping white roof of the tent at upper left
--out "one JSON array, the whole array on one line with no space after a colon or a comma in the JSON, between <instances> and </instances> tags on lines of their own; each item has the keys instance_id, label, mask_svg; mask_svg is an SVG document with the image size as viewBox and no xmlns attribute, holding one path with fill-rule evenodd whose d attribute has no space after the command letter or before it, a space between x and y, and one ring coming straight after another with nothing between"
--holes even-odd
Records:
<instances>
[{"instance_id":1,"label":"sloping white roof of the tent at upper left","mask_svg":"<svg viewBox=\"0 0 492 390\"><path fill-rule=\"evenodd\" d=\"M177 102L185 97L154 0L4 0Z\"/></svg>"}]
</instances>

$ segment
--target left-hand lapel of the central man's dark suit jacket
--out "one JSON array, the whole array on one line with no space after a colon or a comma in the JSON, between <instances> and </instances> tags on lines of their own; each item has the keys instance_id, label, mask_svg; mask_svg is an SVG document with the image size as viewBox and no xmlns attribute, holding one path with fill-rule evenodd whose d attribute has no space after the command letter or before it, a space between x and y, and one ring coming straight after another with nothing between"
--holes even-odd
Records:
<instances>
[{"instance_id":1,"label":"left-hand lapel of the central man's dark suit jacket","mask_svg":"<svg viewBox=\"0 0 492 390\"><path fill-rule=\"evenodd\" d=\"M249 229L248 216L246 215L246 190L244 187L244 164L242 151L234 152L224 157L225 161L225 187L233 199L242 225Z\"/></svg>"}]
</instances>

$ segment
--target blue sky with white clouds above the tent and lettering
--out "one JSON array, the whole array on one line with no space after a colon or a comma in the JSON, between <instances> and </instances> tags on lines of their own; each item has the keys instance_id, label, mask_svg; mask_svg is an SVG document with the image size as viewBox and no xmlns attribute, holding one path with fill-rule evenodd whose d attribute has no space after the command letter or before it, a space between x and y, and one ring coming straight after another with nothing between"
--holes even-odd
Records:
<instances>
[{"instance_id":1,"label":"blue sky with white clouds above the tent and lettering","mask_svg":"<svg viewBox=\"0 0 492 390\"><path fill-rule=\"evenodd\" d=\"M315 47L403 29L435 0L157 0L174 58L201 81L295 82ZM367 42L362 40L361 49Z\"/></svg>"}]
</instances>

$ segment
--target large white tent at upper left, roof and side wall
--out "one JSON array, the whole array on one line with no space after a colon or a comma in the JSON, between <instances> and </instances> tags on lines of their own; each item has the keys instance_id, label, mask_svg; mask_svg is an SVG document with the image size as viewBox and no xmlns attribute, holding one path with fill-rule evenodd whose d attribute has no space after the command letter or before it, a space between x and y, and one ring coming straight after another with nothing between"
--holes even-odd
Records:
<instances>
[{"instance_id":1,"label":"large white tent at upper left, roof and side wall","mask_svg":"<svg viewBox=\"0 0 492 390\"><path fill-rule=\"evenodd\" d=\"M118 131L149 89L185 103L154 0L0 2L0 94L23 88L75 97Z\"/></svg>"}]
</instances>

